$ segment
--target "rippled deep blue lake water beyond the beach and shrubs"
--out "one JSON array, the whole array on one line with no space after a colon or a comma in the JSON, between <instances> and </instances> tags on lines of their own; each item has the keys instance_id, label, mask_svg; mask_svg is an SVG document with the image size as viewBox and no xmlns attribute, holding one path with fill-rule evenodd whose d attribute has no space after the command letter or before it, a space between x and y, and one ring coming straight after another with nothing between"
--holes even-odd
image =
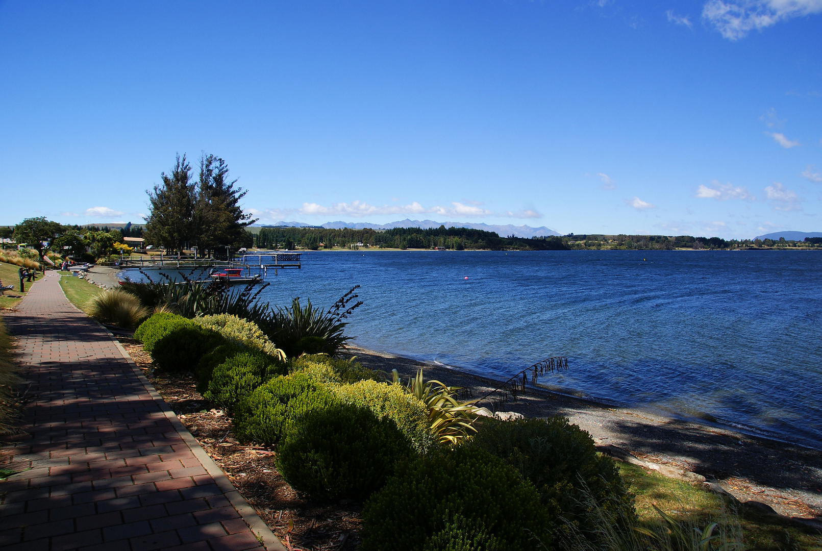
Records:
<instances>
[{"instance_id":1,"label":"rippled deep blue lake water beyond the beach and shrubs","mask_svg":"<svg viewBox=\"0 0 822 551\"><path fill-rule=\"evenodd\" d=\"M353 285L365 348L822 447L818 252L311 252L261 294L328 307ZM465 278L468 278L467 280Z\"/></svg>"}]
</instances>

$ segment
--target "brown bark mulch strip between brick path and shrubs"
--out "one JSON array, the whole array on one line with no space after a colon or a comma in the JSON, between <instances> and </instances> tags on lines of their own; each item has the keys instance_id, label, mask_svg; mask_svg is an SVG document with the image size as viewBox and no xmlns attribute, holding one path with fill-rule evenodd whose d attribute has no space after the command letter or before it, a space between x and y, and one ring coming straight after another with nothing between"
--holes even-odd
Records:
<instances>
[{"instance_id":1,"label":"brown bark mulch strip between brick path and shrubs","mask_svg":"<svg viewBox=\"0 0 822 551\"><path fill-rule=\"evenodd\" d=\"M286 546L294 551L359 548L362 504L314 502L295 491L277 472L275 451L238 442L231 419L196 391L192 373L155 371L139 342L122 336L118 340L182 424Z\"/></svg>"}]
</instances>

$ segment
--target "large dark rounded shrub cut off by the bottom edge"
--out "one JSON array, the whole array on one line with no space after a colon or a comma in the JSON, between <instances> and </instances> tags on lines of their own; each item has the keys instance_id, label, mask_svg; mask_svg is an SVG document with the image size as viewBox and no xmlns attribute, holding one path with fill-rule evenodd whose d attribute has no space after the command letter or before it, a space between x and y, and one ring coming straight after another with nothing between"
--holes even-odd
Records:
<instances>
[{"instance_id":1,"label":"large dark rounded shrub cut off by the bottom edge","mask_svg":"<svg viewBox=\"0 0 822 551\"><path fill-rule=\"evenodd\" d=\"M549 544L551 531L533 484L487 451L457 446L402 465L372 495L362 549L522 551L539 549L538 539ZM483 548L483 538L491 545Z\"/></svg>"}]
</instances>

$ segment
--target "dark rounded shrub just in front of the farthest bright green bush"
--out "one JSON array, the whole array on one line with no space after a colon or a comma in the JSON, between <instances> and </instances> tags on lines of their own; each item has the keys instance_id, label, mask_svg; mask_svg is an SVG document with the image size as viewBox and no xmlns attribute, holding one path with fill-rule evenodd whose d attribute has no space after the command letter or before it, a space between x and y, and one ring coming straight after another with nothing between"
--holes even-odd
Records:
<instances>
[{"instance_id":1,"label":"dark rounded shrub just in front of the farthest bright green bush","mask_svg":"<svg viewBox=\"0 0 822 551\"><path fill-rule=\"evenodd\" d=\"M203 354L224 343L219 333L185 320L155 341L151 358L166 371L194 371Z\"/></svg>"}]
</instances>

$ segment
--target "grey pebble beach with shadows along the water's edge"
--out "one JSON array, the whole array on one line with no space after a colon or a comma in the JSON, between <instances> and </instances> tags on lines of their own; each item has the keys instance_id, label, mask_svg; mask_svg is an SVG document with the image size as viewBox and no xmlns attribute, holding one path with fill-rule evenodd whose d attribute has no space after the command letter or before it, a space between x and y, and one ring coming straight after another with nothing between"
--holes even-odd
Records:
<instances>
[{"instance_id":1,"label":"grey pebble beach with shadows along the water's edge","mask_svg":"<svg viewBox=\"0 0 822 551\"><path fill-rule=\"evenodd\" d=\"M403 380L423 368L426 380L464 387L466 400L482 397L500 384L442 364L356 345L349 345L345 354L386 374L397 369ZM688 475L696 473L740 502L764 502L782 515L822 516L822 451L814 448L642 408L607 405L546 387L529 387L517 401L506 401L497 410L536 418L560 414L588 431L603 451L616 447L640 461L670 467L672 474L699 479Z\"/></svg>"}]
</instances>

